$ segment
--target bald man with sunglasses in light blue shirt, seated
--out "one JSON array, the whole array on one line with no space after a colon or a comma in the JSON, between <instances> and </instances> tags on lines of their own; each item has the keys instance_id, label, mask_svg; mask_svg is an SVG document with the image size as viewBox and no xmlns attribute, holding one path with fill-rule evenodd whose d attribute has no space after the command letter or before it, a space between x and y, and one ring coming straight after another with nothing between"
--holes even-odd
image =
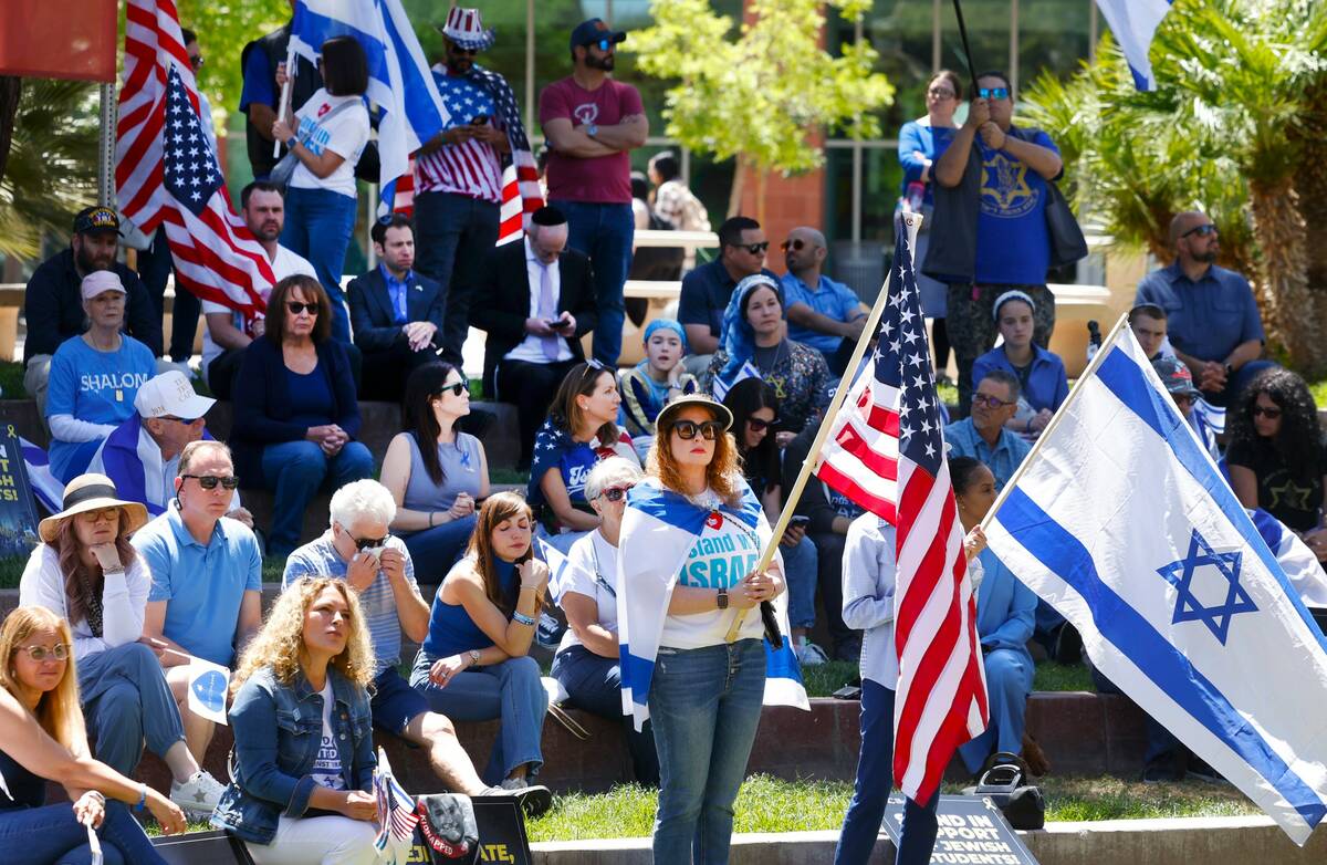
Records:
<instances>
[{"instance_id":1,"label":"bald man with sunglasses in light blue shirt, seated","mask_svg":"<svg viewBox=\"0 0 1327 865\"><path fill-rule=\"evenodd\" d=\"M823 233L808 226L794 228L782 247L788 338L824 354L829 369L843 375L869 310L856 292L823 273L829 255Z\"/></svg>"}]
</instances>

